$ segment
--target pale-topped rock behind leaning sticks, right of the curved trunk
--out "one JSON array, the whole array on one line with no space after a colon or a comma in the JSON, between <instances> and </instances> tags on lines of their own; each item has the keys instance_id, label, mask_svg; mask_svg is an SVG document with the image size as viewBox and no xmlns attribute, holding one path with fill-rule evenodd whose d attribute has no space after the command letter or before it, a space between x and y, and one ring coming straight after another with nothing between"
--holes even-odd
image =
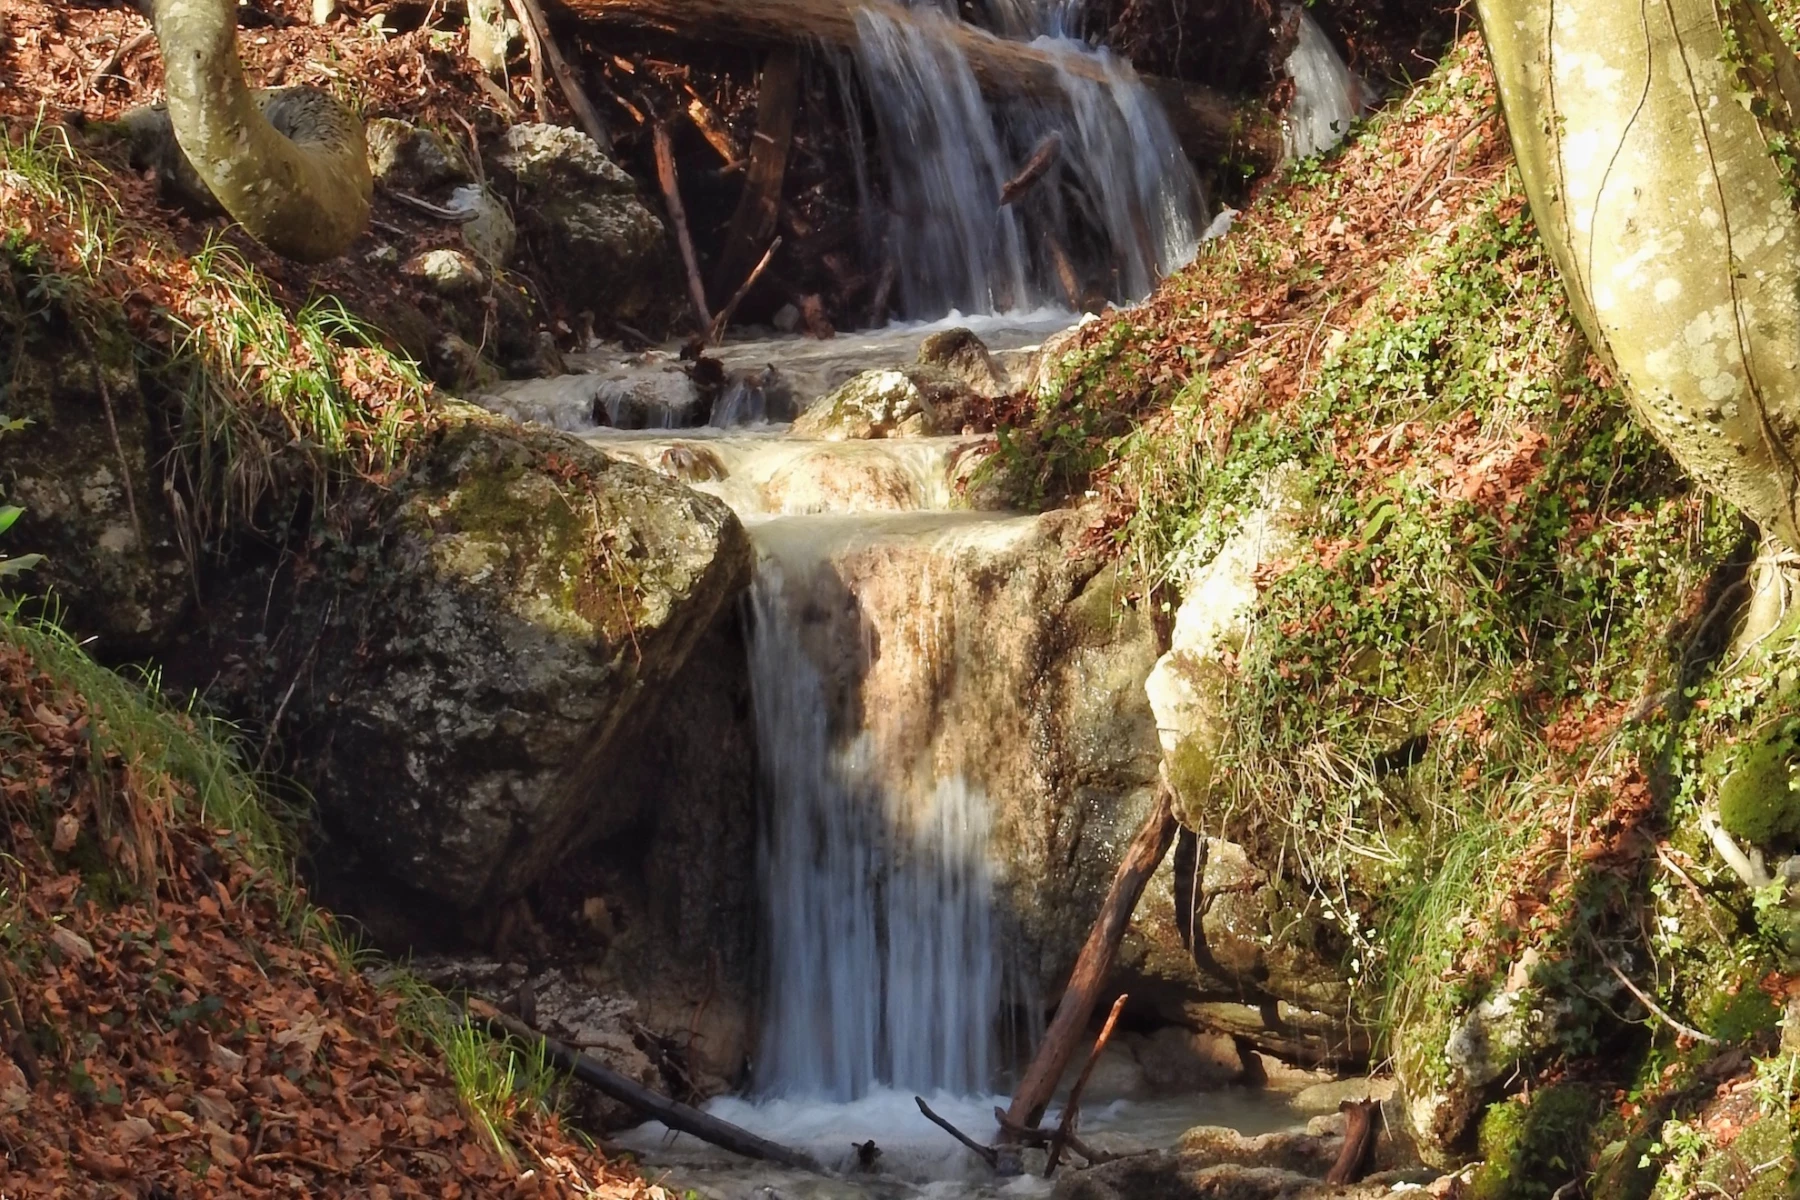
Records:
<instances>
[{"instance_id":1,"label":"pale-topped rock behind leaning sticks, right of the curved trunk","mask_svg":"<svg viewBox=\"0 0 1800 1200\"><path fill-rule=\"evenodd\" d=\"M493 157L511 176L513 210L531 234L536 268L569 313L626 320L652 335L680 311L682 284L661 218L594 139L518 124Z\"/></svg>"}]
</instances>

